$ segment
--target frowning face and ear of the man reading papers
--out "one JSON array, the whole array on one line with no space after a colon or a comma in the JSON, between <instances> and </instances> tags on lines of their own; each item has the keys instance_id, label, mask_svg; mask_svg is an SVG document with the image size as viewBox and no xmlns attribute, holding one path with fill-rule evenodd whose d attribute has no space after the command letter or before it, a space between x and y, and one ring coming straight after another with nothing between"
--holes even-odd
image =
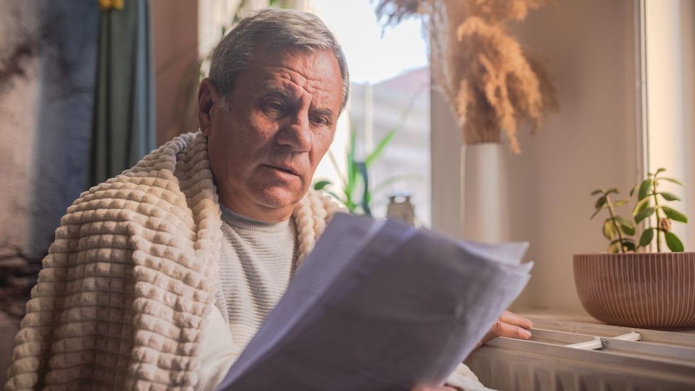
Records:
<instances>
[{"instance_id":1,"label":"frowning face and ear of the man reading papers","mask_svg":"<svg viewBox=\"0 0 695 391\"><path fill-rule=\"evenodd\" d=\"M212 83L201 83L201 131L225 206L262 221L289 218L333 141L342 83L333 53L298 48L257 53L226 109Z\"/></svg>"}]
</instances>

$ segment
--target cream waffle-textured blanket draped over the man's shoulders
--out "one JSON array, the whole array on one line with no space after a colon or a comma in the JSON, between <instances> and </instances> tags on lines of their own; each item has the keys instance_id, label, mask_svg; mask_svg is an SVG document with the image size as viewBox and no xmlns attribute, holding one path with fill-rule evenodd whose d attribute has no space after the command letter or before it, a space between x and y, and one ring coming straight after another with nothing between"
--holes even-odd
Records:
<instances>
[{"instance_id":1,"label":"cream waffle-textured blanket draped over the man's shoulders","mask_svg":"<svg viewBox=\"0 0 695 391\"><path fill-rule=\"evenodd\" d=\"M294 210L299 259L335 211ZM206 138L174 138L67 209L26 305L6 390L193 390L220 208Z\"/></svg>"}]
</instances>

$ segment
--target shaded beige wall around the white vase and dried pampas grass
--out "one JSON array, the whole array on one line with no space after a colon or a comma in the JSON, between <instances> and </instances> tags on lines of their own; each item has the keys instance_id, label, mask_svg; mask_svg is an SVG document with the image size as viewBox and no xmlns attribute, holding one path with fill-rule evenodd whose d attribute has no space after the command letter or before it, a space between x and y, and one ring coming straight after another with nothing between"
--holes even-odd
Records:
<instances>
[{"instance_id":1,"label":"shaded beige wall around the white vase and dried pampas grass","mask_svg":"<svg viewBox=\"0 0 695 391\"><path fill-rule=\"evenodd\" d=\"M572 254L607 244L600 222L589 221L589 193L609 186L626 193L638 177L634 13L633 1L557 0L514 29L531 53L547 60L562 106L535 136L520 132L521 155L505 148L508 239L530 242L527 259L535 261L516 309L583 313ZM456 130L442 101L432 101L433 224L456 233Z\"/></svg>"}]
</instances>

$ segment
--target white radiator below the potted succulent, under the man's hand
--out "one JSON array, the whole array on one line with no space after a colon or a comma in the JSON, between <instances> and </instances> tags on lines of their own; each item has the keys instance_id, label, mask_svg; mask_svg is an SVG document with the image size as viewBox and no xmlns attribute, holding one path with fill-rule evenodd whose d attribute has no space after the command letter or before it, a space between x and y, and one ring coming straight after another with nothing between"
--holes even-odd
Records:
<instances>
[{"instance_id":1,"label":"white radiator below the potted succulent, under the man's hand","mask_svg":"<svg viewBox=\"0 0 695 391\"><path fill-rule=\"evenodd\" d=\"M533 319L533 338L496 338L466 360L503 391L695 390L695 335Z\"/></svg>"}]
</instances>

